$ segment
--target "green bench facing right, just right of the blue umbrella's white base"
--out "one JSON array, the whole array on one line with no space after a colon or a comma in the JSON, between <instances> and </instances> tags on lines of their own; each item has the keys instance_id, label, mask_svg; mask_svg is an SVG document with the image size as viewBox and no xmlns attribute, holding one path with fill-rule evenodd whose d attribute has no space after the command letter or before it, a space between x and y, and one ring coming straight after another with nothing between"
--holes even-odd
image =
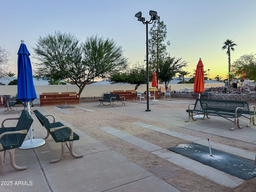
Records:
<instances>
[{"instance_id":1,"label":"green bench facing right, just right of the blue umbrella's white base","mask_svg":"<svg viewBox=\"0 0 256 192\"><path fill-rule=\"evenodd\" d=\"M60 161L65 154L65 145L67 146L70 154L75 158L83 157L82 154L77 155L73 152L73 142L75 140L79 140L78 134L76 134L73 129L69 126L65 126L61 122L55 122L55 117L53 115L43 115L38 110L34 110L34 114L38 118L39 122L44 126L47 130L47 136L44 138L46 140L48 136L51 134L52 138L56 143L61 142L61 155L57 159L51 160L52 163L56 163ZM50 123L47 116L52 116L53 122ZM67 144L69 142L69 146Z\"/></svg>"}]
</instances>

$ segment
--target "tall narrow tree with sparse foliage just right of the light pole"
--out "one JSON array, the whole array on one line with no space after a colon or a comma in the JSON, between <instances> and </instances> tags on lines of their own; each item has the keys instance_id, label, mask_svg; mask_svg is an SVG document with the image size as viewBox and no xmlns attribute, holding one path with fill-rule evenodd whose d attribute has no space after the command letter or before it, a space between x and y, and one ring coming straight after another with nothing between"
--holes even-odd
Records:
<instances>
[{"instance_id":1,"label":"tall narrow tree with sparse foliage just right of the light pole","mask_svg":"<svg viewBox=\"0 0 256 192\"><path fill-rule=\"evenodd\" d=\"M167 28L164 21L160 19L155 20L152 28L150 28L148 39L148 51L149 51L149 70L156 70L156 74L159 72L159 65L164 62L164 58L167 55L166 46L170 45L170 42L165 40L167 37Z\"/></svg>"}]
</instances>

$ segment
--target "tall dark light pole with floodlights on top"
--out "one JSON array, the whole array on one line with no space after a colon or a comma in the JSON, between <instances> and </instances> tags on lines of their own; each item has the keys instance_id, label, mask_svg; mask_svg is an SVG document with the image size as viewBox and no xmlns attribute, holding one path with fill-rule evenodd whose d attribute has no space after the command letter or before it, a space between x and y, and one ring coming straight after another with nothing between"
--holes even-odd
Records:
<instances>
[{"instance_id":1,"label":"tall dark light pole with floodlights on top","mask_svg":"<svg viewBox=\"0 0 256 192\"><path fill-rule=\"evenodd\" d=\"M150 111L149 109L149 92L148 92L148 78L149 78L149 72L148 72L148 24L152 24L154 20L158 20L159 17L157 15L156 11L149 11L149 15L151 16L149 21L145 21L145 18L142 17L142 12L138 12L135 14L135 17L138 18L138 21L141 21L143 24L146 24L146 81L147 81L147 109L146 111Z\"/></svg>"}]
</instances>

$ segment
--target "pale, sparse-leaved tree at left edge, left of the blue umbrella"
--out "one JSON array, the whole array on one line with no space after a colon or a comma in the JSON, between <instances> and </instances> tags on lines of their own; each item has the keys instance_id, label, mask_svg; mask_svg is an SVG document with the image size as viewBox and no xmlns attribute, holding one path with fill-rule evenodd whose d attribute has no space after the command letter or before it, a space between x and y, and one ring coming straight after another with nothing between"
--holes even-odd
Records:
<instances>
[{"instance_id":1,"label":"pale, sparse-leaved tree at left edge, left of the blue umbrella","mask_svg":"<svg viewBox=\"0 0 256 192\"><path fill-rule=\"evenodd\" d=\"M6 76L9 70L9 62L12 60L11 52L5 46L0 46L0 77Z\"/></svg>"}]
</instances>

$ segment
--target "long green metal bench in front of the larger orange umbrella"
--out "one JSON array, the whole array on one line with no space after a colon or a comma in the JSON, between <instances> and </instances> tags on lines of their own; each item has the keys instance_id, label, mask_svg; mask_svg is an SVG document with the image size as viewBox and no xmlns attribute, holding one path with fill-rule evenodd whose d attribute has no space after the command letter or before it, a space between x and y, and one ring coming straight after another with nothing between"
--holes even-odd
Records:
<instances>
[{"instance_id":1,"label":"long green metal bench in front of the larger orange umbrella","mask_svg":"<svg viewBox=\"0 0 256 192\"><path fill-rule=\"evenodd\" d=\"M196 120L194 118L194 113L204 115L202 119L205 117L210 118L208 115L223 117L227 120L229 118L234 118L234 126L230 128L230 130L234 130L236 126L238 128L242 128L239 125L239 118L242 116L243 109L245 107L246 102L240 100L214 100L214 99L196 99L195 104L188 105L188 122L190 117L192 120ZM194 105L193 109L190 109L190 106ZM233 122L232 120L230 120Z\"/></svg>"}]
</instances>

